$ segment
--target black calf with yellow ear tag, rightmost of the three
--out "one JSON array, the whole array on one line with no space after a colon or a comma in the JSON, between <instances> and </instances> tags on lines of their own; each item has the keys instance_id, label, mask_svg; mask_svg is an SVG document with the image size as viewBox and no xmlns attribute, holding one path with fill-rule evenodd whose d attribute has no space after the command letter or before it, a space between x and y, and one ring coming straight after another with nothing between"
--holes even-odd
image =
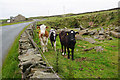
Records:
<instances>
[{"instance_id":1,"label":"black calf with yellow ear tag, rightmost of the three","mask_svg":"<svg viewBox=\"0 0 120 80\"><path fill-rule=\"evenodd\" d=\"M59 34L61 47L62 47L62 55L66 54L66 48L67 48L68 59L70 59L70 50L69 49L72 49L72 60L74 60L73 53L74 53L74 48L75 48L75 44L76 44L76 40L75 40L76 34L79 34L79 33L75 32L73 30L61 31ZM64 46L64 53L63 53L63 46Z\"/></svg>"}]
</instances>

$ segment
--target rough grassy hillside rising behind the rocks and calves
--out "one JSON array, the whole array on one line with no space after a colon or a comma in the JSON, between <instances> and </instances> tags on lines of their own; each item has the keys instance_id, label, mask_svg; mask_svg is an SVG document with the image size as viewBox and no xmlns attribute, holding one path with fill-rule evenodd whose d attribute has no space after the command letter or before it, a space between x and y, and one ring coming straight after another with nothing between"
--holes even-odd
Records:
<instances>
[{"instance_id":1,"label":"rough grassy hillside rising behind the rocks and calves","mask_svg":"<svg viewBox=\"0 0 120 80\"><path fill-rule=\"evenodd\" d=\"M109 10L101 10L94 12L86 12L79 14L64 14L55 16L44 16L36 18L46 18L44 24L53 27L68 27L79 28L82 25L84 28L96 27L115 27L120 26L120 8Z\"/></svg>"}]
</instances>

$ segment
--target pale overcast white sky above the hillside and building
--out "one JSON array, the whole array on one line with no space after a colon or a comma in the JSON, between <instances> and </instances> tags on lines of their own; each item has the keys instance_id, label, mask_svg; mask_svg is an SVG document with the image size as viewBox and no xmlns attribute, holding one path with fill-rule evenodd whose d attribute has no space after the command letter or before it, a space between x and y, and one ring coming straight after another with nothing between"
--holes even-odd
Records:
<instances>
[{"instance_id":1,"label":"pale overcast white sky above the hillside and building","mask_svg":"<svg viewBox=\"0 0 120 80\"><path fill-rule=\"evenodd\" d=\"M83 13L118 7L119 0L0 0L0 19Z\"/></svg>"}]
</instances>

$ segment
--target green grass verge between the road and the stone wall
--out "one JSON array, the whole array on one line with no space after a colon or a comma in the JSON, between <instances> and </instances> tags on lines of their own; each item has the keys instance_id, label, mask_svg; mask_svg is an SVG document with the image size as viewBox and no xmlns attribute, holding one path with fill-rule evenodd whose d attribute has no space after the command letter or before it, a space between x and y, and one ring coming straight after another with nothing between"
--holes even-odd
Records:
<instances>
[{"instance_id":1,"label":"green grass verge between the road and the stone wall","mask_svg":"<svg viewBox=\"0 0 120 80\"><path fill-rule=\"evenodd\" d=\"M29 26L29 25L28 25ZM2 78L21 78L20 69L18 68L19 60L19 39L21 34L28 27L26 26L16 37L14 43L12 44L5 61L2 66Z\"/></svg>"}]
</instances>

